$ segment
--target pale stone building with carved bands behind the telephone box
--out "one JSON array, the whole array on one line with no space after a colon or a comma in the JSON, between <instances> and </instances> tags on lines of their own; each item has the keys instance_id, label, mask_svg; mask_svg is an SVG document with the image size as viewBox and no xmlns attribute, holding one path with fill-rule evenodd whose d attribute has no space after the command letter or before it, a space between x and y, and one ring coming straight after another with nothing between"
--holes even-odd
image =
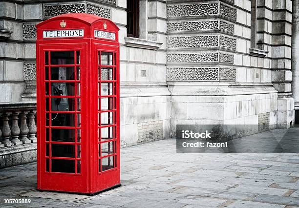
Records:
<instances>
[{"instance_id":1,"label":"pale stone building with carved bands behind the telephone box","mask_svg":"<svg viewBox=\"0 0 299 208\"><path fill-rule=\"evenodd\" d=\"M35 159L35 24L64 13L120 28L122 146L177 124L295 123L299 0L3 0L0 166Z\"/></svg>"}]
</instances>

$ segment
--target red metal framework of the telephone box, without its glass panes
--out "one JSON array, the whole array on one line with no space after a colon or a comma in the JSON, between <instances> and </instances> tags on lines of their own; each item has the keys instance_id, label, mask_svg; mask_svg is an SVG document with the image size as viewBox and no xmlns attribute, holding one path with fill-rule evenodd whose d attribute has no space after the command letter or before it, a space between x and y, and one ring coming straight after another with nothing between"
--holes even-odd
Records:
<instances>
[{"instance_id":1,"label":"red metal framework of the telephone box, without its glass panes","mask_svg":"<svg viewBox=\"0 0 299 208\"><path fill-rule=\"evenodd\" d=\"M61 28L60 22L66 22ZM37 25L37 124L38 124L38 189L93 194L120 185L120 97L119 97L119 28L110 20L83 13L65 14ZM43 39L43 31L84 29L84 38ZM115 33L115 40L94 37L94 30ZM51 52L74 51L74 64L51 64ZM80 63L77 63L77 52L80 51ZM45 63L47 52L48 63ZM104 53L103 53L104 52ZM112 64L101 63L101 54L112 53ZM98 56L100 54L100 56ZM74 80L51 80L52 67L74 67ZM77 80L77 67L80 67L80 80ZM47 80L45 73L47 68ZM112 68L112 79L101 80L101 68ZM100 71L98 70L100 69ZM110 77L110 69L103 69ZM100 74L99 74L100 73ZM73 84L72 95L51 95L51 83ZM80 94L77 85L80 83ZM107 87L107 95L101 94L101 87ZM45 94L46 85L48 94ZM101 86L101 87L99 87ZM106 89L106 88L105 88ZM109 95L110 94L110 95ZM72 111L51 109L51 99L64 98L74 101ZM73 100L74 99L74 100ZM101 99L107 106L101 109ZM107 100L106 100L107 99ZM80 110L77 108L80 101ZM47 103L47 109L46 109ZM107 108L107 109L106 109ZM54 126L50 115L74 115L74 125ZM112 114L113 123L103 124L101 117ZM48 115L48 116L47 116ZM80 117L78 117L80 115ZM78 119L80 118L80 124ZM47 120L48 119L48 120ZM110 122L109 122L110 123ZM101 135L105 129L112 128L113 136ZM75 140L52 141L51 129L73 129ZM80 140L78 133L80 131ZM73 134L72 134L73 135ZM110 144L112 143L112 146ZM52 146L69 145L74 148L74 156L62 157L52 155ZM107 146L102 151L102 146ZM65 146L64 146L65 147ZM80 148L79 148L80 147ZM54 148L54 147L53 147ZM112 149L111 149L112 148ZM80 152L79 152L80 151ZM71 151L72 153L72 151ZM80 153L80 155L78 154ZM113 161L104 166L104 161L112 157ZM74 161L74 172L55 172L51 169L52 161L60 160L61 164ZM55 163L57 161L54 161ZM80 164L79 164L80 163ZM109 164L110 163L110 164ZM101 165L102 164L102 165ZM80 165L80 166L79 166ZM110 166L109 166L110 165ZM108 168L108 169L107 169Z\"/></svg>"}]
</instances>

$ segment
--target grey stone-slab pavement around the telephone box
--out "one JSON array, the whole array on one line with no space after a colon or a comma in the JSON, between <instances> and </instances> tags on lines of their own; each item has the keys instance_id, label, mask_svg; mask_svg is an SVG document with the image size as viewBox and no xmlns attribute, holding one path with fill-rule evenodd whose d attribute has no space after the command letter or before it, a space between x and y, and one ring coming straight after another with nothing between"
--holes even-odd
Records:
<instances>
[{"instance_id":1,"label":"grey stone-slab pavement around the telephone box","mask_svg":"<svg viewBox=\"0 0 299 208\"><path fill-rule=\"evenodd\" d=\"M96 196L36 191L36 163L0 169L0 207L292 208L299 206L298 156L184 154L175 140L162 140L121 149L122 187ZM26 198L30 204L3 200Z\"/></svg>"}]
</instances>

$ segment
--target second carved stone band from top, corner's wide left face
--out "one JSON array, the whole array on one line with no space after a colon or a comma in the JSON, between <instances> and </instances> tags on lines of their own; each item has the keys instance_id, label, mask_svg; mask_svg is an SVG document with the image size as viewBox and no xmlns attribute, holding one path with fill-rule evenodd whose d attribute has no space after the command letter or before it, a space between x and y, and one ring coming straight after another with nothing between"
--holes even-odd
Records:
<instances>
[{"instance_id":1,"label":"second carved stone band from top, corner's wide left face","mask_svg":"<svg viewBox=\"0 0 299 208\"><path fill-rule=\"evenodd\" d=\"M167 24L167 31L188 31L188 30L192 31L192 30L217 30L217 29L219 29L219 21L217 20L170 22Z\"/></svg>"}]
</instances>

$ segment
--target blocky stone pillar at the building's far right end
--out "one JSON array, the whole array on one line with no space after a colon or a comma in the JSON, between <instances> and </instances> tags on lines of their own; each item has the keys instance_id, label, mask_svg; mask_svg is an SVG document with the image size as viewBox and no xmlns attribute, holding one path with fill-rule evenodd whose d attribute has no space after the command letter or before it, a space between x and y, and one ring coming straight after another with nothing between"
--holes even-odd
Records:
<instances>
[{"instance_id":1,"label":"blocky stone pillar at the building's far right end","mask_svg":"<svg viewBox=\"0 0 299 208\"><path fill-rule=\"evenodd\" d=\"M272 83L278 90L277 125L289 128L295 123L291 93L292 1L273 0L272 10ZM293 47L294 48L294 47Z\"/></svg>"}]
</instances>

